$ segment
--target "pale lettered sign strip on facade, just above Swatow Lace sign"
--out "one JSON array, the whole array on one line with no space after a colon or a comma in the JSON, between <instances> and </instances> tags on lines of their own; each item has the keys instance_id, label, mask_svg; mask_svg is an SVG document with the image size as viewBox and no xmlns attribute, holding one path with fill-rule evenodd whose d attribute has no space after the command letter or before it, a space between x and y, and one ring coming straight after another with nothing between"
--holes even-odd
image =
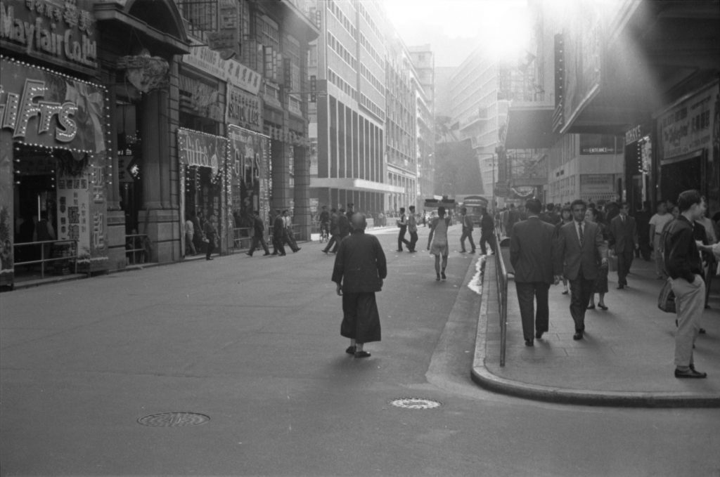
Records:
<instances>
[{"instance_id":1,"label":"pale lettered sign strip on facade, just above Swatow Lace sign","mask_svg":"<svg viewBox=\"0 0 720 477\"><path fill-rule=\"evenodd\" d=\"M250 91L252 94L258 94L260 91L262 80L260 73L236 60L223 60L220 53L210 50L207 46L192 45L190 50L191 53L182 57L186 65L191 65L222 81L228 81L233 86Z\"/></svg>"}]
</instances>

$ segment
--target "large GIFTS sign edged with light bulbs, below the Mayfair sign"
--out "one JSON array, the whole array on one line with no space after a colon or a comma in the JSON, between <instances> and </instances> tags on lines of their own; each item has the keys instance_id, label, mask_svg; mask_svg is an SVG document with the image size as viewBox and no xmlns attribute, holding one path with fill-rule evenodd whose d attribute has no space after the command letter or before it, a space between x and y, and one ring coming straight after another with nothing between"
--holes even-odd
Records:
<instances>
[{"instance_id":1,"label":"large GIFTS sign edged with light bulbs, below the Mayfair sign","mask_svg":"<svg viewBox=\"0 0 720 477\"><path fill-rule=\"evenodd\" d=\"M105 150L102 86L2 58L1 128L28 144Z\"/></svg>"}]
</instances>

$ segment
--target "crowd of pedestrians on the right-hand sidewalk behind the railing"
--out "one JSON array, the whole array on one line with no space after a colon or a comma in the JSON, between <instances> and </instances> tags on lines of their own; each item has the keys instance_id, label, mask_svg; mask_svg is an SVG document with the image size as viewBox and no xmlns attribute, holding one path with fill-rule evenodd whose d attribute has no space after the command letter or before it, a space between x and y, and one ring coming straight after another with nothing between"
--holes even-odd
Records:
<instances>
[{"instance_id":1,"label":"crowd of pedestrians on the right-hand sidewalk behind the railing","mask_svg":"<svg viewBox=\"0 0 720 477\"><path fill-rule=\"evenodd\" d=\"M670 280L675 294L675 377L707 376L696 371L693 347L704 332L700 318L709 307L711 281L720 273L720 214L707 217L706 199L694 190L684 191L676 203L658 204L652 217L648 209L644 204L632 217L628 204L598 207L578 199L558 213L554 204L543 210L539 201L530 199L498 215L510 237L510 263L526 346L533 346L548 330L552 284L564 281L562 293L570 294L573 339L582 340L585 312L595 309L595 294L598 308L608 309L611 263L617 272L617 289L624 290L629 288L627 277L634 258L652 259L657 278Z\"/></svg>"}]
</instances>

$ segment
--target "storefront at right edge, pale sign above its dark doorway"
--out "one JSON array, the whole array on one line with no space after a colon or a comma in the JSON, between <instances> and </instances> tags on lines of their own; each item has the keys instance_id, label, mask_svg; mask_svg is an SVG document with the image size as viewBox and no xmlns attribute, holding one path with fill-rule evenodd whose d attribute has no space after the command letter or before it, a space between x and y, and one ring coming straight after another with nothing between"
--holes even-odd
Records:
<instances>
[{"instance_id":1,"label":"storefront at right edge, pale sign above its dark doorway","mask_svg":"<svg viewBox=\"0 0 720 477\"><path fill-rule=\"evenodd\" d=\"M720 210L719 83L671 106L657 117L657 199L678 199L690 188L708 199L708 212Z\"/></svg>"}]
</instances>

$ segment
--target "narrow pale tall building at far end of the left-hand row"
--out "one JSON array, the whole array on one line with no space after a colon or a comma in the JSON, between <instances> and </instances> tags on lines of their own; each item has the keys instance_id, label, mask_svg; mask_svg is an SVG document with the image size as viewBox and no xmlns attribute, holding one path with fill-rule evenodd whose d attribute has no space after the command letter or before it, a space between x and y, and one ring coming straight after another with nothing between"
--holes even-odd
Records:
<instances>
[{"instance_id":1,"label":"narrow pale tall building at far end of the left-hand row","mask_svg":"<svg viewBox=\"0 0 720 477\"><path fill-rule=\"evenodd\" d=\"M424 200L435 195L435 56L430 45L408 47L410 59L418 73L416 82L418 210Z\"/></svg>"}]
</instances>

